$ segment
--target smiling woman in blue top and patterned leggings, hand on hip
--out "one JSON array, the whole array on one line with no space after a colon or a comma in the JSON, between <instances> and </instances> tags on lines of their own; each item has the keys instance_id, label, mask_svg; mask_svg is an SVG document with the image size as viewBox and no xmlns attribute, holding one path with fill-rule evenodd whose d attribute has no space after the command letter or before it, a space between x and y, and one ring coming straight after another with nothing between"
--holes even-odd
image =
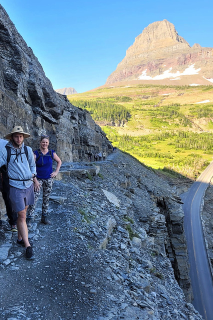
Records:
<instances>
[{"instance_id":1,"label":"smiling woman in blue top and patterned leggings, hand on hip","mask_svg":"<svg viewBox=\"0 0 213 320\"><path fill-rule=\"evenodd\" d=\"M53 178L57 175L61 166L61 160L57 156L54 150L48 149L49 136L41 135L40 148L34 151L34 160L37 171L37 181L34 183L35 203L29 205L26 216L27 226L31 226L31 217L35 209L38 196L40 194L41 186L43 188L43 201L42 201L42 213L41 222L44 224L50 224L51 222L47 218L47 211L49 206L49 196L53 184ZM52 161L57 162L55 171L52 170Z\"/></svg>"}]
</instances>

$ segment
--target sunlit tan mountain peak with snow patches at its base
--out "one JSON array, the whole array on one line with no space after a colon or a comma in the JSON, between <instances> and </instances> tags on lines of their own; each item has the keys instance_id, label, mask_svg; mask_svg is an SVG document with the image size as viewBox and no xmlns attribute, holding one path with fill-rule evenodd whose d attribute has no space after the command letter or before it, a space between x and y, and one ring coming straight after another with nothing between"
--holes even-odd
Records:
<instances>
[{"instance_id":1,"label":"sunlit tan mountain peak with snow patches at its base","mask_svg":"<svg viewBox=\"0 0 213 320\"><path fill-rule=\"evenodd\" d=\"M106 80L106 84L118 81L172 80L170 84L192 81L196 75L198 84L213 82L213 48L199 44L189 46L179 36L174 25L167 20L149 24L127 49L126 56ZM153 83L153 82L151 82Z\"/></svg>"}]
</instances>

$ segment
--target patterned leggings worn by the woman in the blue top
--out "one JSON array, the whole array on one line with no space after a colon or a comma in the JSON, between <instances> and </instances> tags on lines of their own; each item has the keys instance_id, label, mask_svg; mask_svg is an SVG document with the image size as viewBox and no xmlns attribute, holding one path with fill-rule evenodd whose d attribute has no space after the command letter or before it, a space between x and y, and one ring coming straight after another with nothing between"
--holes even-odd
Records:
<instances>
[{"instance_id":1,"label":"patterned leggings worn by the woman in the blue top","mask_svg":"<svg viewBox=\"0 0 213 320\"><path fill-rule=\"evenodd\" d=\"M47 215L47 210L49 206L49 196L50 196L50 192L53 184L53 178L49 178L49 179L37 178L37 181L40 184L40 188L38 191L34 191L35 203L28 206L27 214L26 214L27 217L31 217L34 212L35 205L40 194L41 186L43 187L42 215L43 216Z\"/></svg>"}]
</instances>

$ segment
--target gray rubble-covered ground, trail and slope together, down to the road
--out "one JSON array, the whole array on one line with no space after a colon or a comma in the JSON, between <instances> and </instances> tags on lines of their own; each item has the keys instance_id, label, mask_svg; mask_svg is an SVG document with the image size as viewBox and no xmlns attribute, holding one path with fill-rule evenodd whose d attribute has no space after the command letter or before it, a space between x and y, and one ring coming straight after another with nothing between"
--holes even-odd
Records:
<instances>
[{"instance_id":1,"label":"gray rubble-covered ground, trail and slope together, down to the road","mask_svg":"<svg viewBox=\"0 0 213 320\"><path fill-rule=\"evenodd\" d=\"M74 165L84 172L94 163ZM4 221L2 320L201 319L185 288L190 279L182 214L168 196L178 196L174 185L118 150L98 165L101 174L91 177L61 170L51 193L50 226L39 223L39 199L29 230L32 263ZM21 303L3 295L9 290L4 282L16 275Z\"/></svg>"}]
</instances>

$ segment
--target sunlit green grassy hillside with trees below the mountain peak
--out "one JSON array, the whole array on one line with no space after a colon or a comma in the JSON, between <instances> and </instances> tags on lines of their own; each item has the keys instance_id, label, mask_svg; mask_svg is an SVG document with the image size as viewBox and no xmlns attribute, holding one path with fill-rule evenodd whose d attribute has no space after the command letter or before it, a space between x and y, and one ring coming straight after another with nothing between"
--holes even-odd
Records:
<instances>
[{"instance_id":1,"label":"sunlit green grassy hillside with trees below the mountain peak","mask_svg":"<svg viewBox=\"0 0 213 320\"><path fill-rule=\"evenodd\" d=\"M132 85L68 96L144 164L195 178L212 160L213 86Z\"/></svg>"}]
</instances>

